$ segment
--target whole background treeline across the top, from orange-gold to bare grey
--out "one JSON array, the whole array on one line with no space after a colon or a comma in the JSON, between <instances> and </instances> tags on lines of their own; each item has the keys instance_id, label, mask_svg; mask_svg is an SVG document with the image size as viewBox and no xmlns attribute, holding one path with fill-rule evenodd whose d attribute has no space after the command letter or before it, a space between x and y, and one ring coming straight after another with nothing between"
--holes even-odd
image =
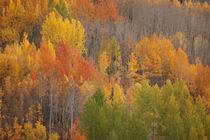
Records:
<instances>
[{"instance_id":1,"label":"whole background treeline across the top, from orange-gold to bare grey","mask_svg":"<svg viewBox=\"0 0 210 140\"><path fill-rule=\"evenodd\" d=\"M182 47L190 63L195 63L199 57L205 65L209 64L210 8L207 2L193 3L190 0L180 4L178 0L124 0L115 4L113 0L10 1L2 0L0 3L0 46L19 42L23 33L27 32L29 41L39 47L41 26L46 15L56 10L63 18L76 18L83 23L85 46L95 62L95 52L99 51L104 34L116 36L124 51L129 41L136 43L141 37L156 33L170 38L176 49Z\"/></svg>"}]
</instances>

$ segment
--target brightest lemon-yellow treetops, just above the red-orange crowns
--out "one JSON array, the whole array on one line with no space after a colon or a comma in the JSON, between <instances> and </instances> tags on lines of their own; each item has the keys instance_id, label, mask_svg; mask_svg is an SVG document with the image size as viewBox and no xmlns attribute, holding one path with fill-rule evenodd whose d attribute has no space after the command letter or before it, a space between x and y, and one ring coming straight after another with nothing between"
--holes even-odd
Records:
<instances>
[{"instance_id":1,"label":"brightest lemon-yellow treetops, just above the red-orange crowns","mask_svg":"<svg viewBox=\"0 0 210 140\"><path fill-rule=\"evenodd\" d=\"M52 12L47 16L44 24L42 25L41 34L44 40L50 40L54 47L59 42L67 42L70 46L76 47L81 53L86 53L84 47L84 28L79 21L72 19L63 20L59 15L56 17Z\"/></svg>"}]
</instances>

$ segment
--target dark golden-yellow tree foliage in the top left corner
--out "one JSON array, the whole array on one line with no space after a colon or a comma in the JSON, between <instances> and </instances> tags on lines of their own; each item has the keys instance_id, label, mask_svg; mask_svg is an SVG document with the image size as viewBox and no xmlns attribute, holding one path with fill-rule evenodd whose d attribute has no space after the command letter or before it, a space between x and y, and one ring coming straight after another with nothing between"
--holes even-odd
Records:
<instances>
[{"instance_id":1,"label":"dark golden-yellow tree foliage in the top left corner","mask_svg":"<svg viewBox=\"0 0 210 140\"><path fill-rule=\"evenodd\" d=\"M26 28L27 13L20 0L17 4L10 0L0 16L0 44L18 42L20 33Z\"/></svg>"}]
</instances>

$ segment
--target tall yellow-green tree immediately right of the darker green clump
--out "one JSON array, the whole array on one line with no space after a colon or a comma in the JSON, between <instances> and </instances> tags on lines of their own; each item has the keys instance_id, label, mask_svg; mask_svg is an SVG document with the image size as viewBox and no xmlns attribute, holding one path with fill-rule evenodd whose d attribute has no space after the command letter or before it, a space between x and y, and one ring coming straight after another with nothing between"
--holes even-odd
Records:
<instances>
[{"instance_id":1,"label":"tall yellow-green tree immediately right of the darker green clump","mask_svg":"<svg viewBox=\"0 0 210 140\"><path fill-rule=\"evenodd\" d=\"M158 89L149 86L148 82L144 81L141 86L138 84L135 88L135 101L133 121L137 121L141 126L138 126L144 130L142 134L145 138L160 139L159 132L162 130L161 120L159 117L159 101Z\"/></svg>"}]
</instances>

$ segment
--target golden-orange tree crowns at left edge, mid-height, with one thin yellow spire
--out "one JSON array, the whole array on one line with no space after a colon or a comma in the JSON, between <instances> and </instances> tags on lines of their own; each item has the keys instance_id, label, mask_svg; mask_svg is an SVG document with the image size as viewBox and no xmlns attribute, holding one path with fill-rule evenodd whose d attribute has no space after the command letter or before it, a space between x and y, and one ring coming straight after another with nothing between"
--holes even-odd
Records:
<instances>
[{"instance_id":1,"label":"golden-orange tree crowns at left edge, mid-height, with one thin yellow spire","mask_svg":"<svg viewBox=\"0 0 210 140\"><path fill-rule=\"evenodd\" d=\"M10 76L14 82L23 79L29 71L35 69L37 63L36 48L30 45L26 34L21 45L7 46L0 56L0 77Z\"/></svg>"}]
</instances>

